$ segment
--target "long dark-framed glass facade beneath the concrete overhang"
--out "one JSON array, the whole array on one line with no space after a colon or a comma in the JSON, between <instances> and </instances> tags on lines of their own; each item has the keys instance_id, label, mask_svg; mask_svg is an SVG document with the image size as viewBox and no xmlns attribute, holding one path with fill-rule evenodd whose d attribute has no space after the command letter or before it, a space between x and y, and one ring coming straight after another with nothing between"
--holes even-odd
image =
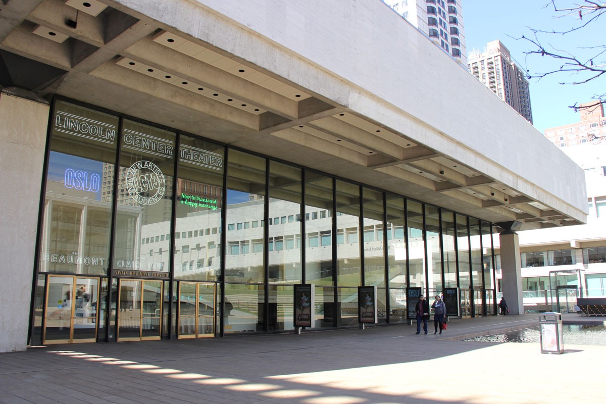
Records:
<instances>
[{"instance_id":1,"label":"long dark-framed glass facade beneath the concrete overhang","mask_svg":"<svg viewBox=\"0 0 606 404\"><path fill-rule=\"evenodd\" d=\"M490 224L150 122L56 101L47 162L36 342L293 329L299 283L316 327L358 286L394 323L408 287L494 288Z\"/></svg>"}]
</instances>

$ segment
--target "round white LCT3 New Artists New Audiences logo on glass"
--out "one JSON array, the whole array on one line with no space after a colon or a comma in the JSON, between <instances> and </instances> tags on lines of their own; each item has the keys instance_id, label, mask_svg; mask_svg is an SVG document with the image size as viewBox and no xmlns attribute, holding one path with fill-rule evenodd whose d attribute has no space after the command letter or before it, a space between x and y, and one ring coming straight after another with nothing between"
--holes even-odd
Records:
<instances>
[{"instance_id":1,"label":"round white LCT3 New Artists New Audiences logo on glass","mask_svg":"<svg viewBox=\"0 0 606 404\"><path fill-rule=\"evenodd\" d=\"M153 205L164 196L166 181L160 168L150 161L138 161L126 173L128 193L141 205Z\"/></svg>"}]
</instances>

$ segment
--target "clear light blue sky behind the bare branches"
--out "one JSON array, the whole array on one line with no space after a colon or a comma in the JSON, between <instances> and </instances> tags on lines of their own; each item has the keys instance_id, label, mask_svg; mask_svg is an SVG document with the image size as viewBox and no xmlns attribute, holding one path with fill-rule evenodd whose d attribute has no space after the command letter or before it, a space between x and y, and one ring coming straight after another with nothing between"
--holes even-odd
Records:
<instances>
[{"instance_id":1,"label":"clear light blue sky behind the bare branches","mask_svg":"<svg viewBox=\"0 0 606 404\"><path fill-rule=\"evenodd\" d=\"M462 4L462 15L465 26L465 45L467 51L473 48L483 50L487 42L496 39L507 47L511 56L520 67L530 72L545 72L556 70L561 62L538 55L527 56L525 52L532 50L533 45L521 38L533 36L529 27L539 30L563 30L579 25L578 15L557 17L549 0L457 0ZM569 7L579 0L558 0L559 7ZM561 15L561 14L560 14ZM574 56L585 56L598 53L587 47L604 45L604 28L606 15L602 21L594 21L588 27L566 35L543 34L541 42L550 44L559 50L565 50ZM587 18L584 19L587 21ZM606 55L594 61L604 63ZM606 78L600 78L588 84L573 85L559 84L565 81L578 81L580 76L570 73L558 73L541 80L530 79L530 101L533 114L533 124L541 133L545 128L573 124L579 121L579 114L570 105L575 102L591 101L598 91L606 92Z\"/></svg>"}]
</instances>

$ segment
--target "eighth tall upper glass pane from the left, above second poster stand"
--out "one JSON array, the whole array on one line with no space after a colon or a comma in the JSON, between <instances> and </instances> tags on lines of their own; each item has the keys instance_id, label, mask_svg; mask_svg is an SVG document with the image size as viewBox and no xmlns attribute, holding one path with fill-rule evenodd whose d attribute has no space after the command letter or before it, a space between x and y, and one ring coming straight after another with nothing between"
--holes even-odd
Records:
<instances>
[{"instance_id":1,"label":"eighth tall upper glass pane from the left, above second poster stand","mask_svg":"<svg viewBox=\"0 0 606 404\"><path fill-rule=\"evenodd\" d=\"M365 286L385 287L385 257L383 237L375 237L375 230L383 228L383 193L362 190L364 212L364 283ZM368 237L371 235L371 237Z\"/></svg>"}]
</instances>

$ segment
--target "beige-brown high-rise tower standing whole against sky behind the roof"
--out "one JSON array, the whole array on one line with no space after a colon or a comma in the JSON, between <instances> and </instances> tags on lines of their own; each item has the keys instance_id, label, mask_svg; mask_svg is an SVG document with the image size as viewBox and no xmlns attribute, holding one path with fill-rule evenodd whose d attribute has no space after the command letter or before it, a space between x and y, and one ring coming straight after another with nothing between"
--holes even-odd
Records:
<instances>
[{"instance_id":1,"label":"beige-brown high-rise tower standing whole against sky behind the roof","mask_svg":"<svg viewBox=\"0 0 606 404\"><path fill-rule=\"evenodd\" d=\"M494 94L532 123L528 80L524 70L511 58L501 41L488 42L483 52L472 50L467 68Z\"/></svg>"}]
</instances>

